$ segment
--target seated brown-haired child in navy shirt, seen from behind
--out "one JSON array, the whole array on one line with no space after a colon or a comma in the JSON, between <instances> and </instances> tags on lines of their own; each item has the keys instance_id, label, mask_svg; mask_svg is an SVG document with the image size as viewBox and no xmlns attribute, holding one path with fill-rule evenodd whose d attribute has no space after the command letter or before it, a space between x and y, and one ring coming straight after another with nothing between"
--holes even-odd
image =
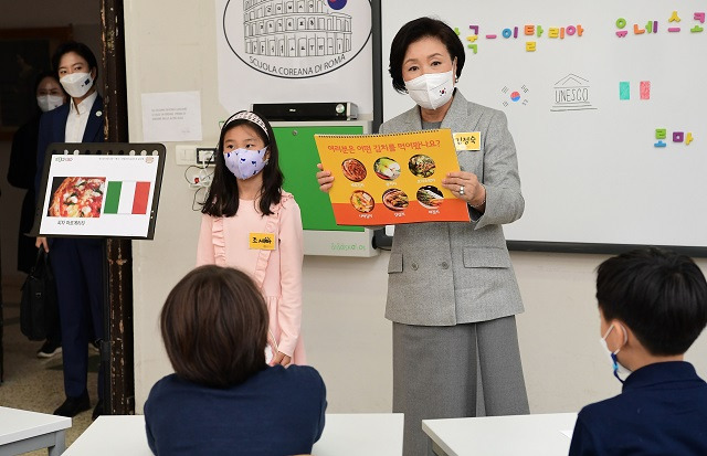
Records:
<instances>
[{"instance_id":1,"label":"seated brown-haired child in navy shirt, seen from behind","mask_svg":"<svg viewBox=\"0 0 707 456\"><path fill-rule=\"evenodd\" d=\"M167 297L160 327L176 373L145 403L152 453L312 453L324 430L324 382L310 367L267 365L267 308L246 274L193 269Z\"/></svg>"}]
</instances>

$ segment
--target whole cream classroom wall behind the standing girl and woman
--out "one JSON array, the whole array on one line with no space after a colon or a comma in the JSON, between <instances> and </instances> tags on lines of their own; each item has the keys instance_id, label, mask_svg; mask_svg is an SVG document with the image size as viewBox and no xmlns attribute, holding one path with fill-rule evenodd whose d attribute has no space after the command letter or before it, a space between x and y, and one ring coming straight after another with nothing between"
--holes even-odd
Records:
<instances>
[{"instance_id":1,"label":"whole cream classroom wall behind the standing girl and woman","mask_svg":"<svg viewBox=\"0 0 707 456\"><path fill-rule=\"evenodd\" d=\"M215 93L214 2L126 0L125 13L130 139L143 136L141 93L200 91L203 144L215 144L217 120L228 113ZM199 227L184 169L175 165L175 145L167 147L155 240L134 242L138 413L155 381L170 372L157 316L169 289L194 264ZM597 342L593 297L593 269L606 256L514 252L511 257L526 305L518 327L531 411L577 411L616 394L620 384ZM383 318L387 262L387 254L305 258L303 335L309 362L327 383L330 412L391 409L391 330ZM707 269L707 261L699 264ZM706 341L703 335L688 353L703 377Z\"/></svg>"}]
</instances>

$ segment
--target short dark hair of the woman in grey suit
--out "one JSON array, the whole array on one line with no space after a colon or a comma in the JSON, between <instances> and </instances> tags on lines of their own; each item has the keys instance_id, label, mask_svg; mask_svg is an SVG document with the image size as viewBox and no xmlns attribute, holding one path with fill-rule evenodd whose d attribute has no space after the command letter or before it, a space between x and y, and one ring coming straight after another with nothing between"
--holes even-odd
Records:
<instances>
[{"instance_id":1,"label":"short dark hair of the woman in grey suit","mask_svg":"<svg viewBox=\"0 0 707 456\"><path fill-rule=\"evenodd\" d=\"M462 75L464 61L464 45L452 28L439 19L419 18L400 28L390 45L390 66L388 71L393 78L393 88L401 94L407 93L405 82L402 78L402 62L410 44L423 38L436 38L449 51L452 60L456 59L456 77Z\"/></svg>"}]
</instances>

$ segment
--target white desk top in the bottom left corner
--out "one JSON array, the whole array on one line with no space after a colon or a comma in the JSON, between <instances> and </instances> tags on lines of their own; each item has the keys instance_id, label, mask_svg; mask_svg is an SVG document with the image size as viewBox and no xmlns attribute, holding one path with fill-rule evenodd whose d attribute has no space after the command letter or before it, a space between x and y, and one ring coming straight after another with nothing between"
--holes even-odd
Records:
<instances>
[{"instance_id":1,"label":"white desk top in the bottom left corner","mask_svg":"<svg viewBox=\"0 0 707 456\"><path fill-rule=\"evenodd\" d=\"M0 445L64 431L68 427L71 427L71 418L65 416L0 407Z\"/></svg>"}]
</instances>

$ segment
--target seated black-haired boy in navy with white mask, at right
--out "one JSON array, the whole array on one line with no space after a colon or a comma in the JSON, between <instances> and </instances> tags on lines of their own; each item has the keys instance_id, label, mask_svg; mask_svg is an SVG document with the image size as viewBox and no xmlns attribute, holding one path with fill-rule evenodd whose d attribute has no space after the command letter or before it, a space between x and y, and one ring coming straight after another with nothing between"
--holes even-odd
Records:
<instances>
[{"instance_id":1,"label":"seated black-haired boy in navy with white mask, at right","mask_svg":"<svg viewBox=\"0 0 707 456\"><path fill-rule=\"evenodd\" d=\"M570 456L707 455L707 383L683 360L707 325L699 267L658 248L624 253L599 266L597 300L623 390L581 410Z\"/></svg>"}]
</instances>

